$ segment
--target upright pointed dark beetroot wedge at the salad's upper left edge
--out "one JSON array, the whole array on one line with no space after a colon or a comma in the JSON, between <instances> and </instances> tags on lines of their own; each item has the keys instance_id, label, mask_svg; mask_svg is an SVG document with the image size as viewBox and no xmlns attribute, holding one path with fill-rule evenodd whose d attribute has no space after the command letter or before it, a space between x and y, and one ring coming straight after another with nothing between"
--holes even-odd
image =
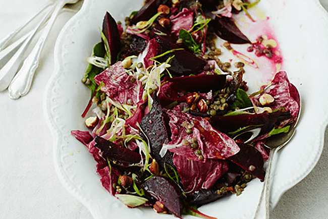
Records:
<instances>
[{"instance_id":1,"label":"upright pointed dark beetroot wedge at the salad's upper left edge","mask_svg":"<svg viewBox=\"0 0 328 219\"><path fill-rule=\"evenodd\" d=\"M116 21L108 12L106 12L105 17L103 18L102 32L110 46L111 64L114 64L116 63L117 55L121 50L121 36Z\"/></svg>"}]
</instances>

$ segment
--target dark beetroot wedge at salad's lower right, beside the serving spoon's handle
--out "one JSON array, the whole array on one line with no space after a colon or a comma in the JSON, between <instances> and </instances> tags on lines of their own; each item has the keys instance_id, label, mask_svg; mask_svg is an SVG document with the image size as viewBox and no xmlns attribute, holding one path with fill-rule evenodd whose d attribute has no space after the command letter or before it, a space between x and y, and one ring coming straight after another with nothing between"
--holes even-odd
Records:
<instances>
[{"instance_id":1,"label":"dark beetroot wedge at salad's lower right, beside the serving spoon's handle","mask_svg":"<svg viewBox=\"0 0 328 219\"><path fill-rule=\"evenodd\" d=\"M263 157L261 153L251 145L244 143L237 143L240 151L228 157L228 159L236 165L240 166L246 172L257 177L261 181L264 180L265 172L263 171Z\"/></svg>"}]
</instances>

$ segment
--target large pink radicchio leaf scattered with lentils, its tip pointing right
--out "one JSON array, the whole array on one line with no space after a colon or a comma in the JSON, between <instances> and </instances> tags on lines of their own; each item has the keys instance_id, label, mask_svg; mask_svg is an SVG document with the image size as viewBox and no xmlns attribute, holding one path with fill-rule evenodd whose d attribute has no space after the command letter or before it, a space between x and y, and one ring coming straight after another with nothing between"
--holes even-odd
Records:
<instances>
[{"instance_id":1,"label":"large pink radicchio leaf scattered with lentils, its tip pointing right","mask_svg":"<svg viewBox=\"0 0 328 219\"><path fill-rule=\"evenodd\" d=\"M207 120L182 113L180 106L165 109L165 112L170 117L172 141L163 145L161 154L169 150L188 159L205 162L208 158L225 159L239 151L233 139L214 130ZM192 127L191 134L187 133L186 126ZM191 142L194 141L193 139L197 139L197 149L201 151L202 158L190 146Z\"/></svg>"}]
</instances>

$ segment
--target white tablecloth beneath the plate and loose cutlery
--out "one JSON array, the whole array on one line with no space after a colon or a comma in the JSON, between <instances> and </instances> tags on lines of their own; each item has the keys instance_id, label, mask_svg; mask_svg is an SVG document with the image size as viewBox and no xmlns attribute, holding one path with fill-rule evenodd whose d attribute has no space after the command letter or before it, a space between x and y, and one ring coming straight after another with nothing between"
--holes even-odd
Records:
<instances>
[{"instance_id":1,"label":"white tablecloth beneath the plate and loose cutlery","mask_svg":"<svg viewBox=\"0 0 328 219\"><path fill-rule=\"evenodd\" d=\"M42 0L0 0L0 39L44 4ZM43 117L43 93L53 71L54 43L73 15L65 11L56 20L30 92L18 100L10 99L7 90L0 92L0 218L92 218L56 176L52 136ZM271 213L272 219L328 218L327 158L325 140L313 171L282 196Z\"/></svg>"}]
</instances>

